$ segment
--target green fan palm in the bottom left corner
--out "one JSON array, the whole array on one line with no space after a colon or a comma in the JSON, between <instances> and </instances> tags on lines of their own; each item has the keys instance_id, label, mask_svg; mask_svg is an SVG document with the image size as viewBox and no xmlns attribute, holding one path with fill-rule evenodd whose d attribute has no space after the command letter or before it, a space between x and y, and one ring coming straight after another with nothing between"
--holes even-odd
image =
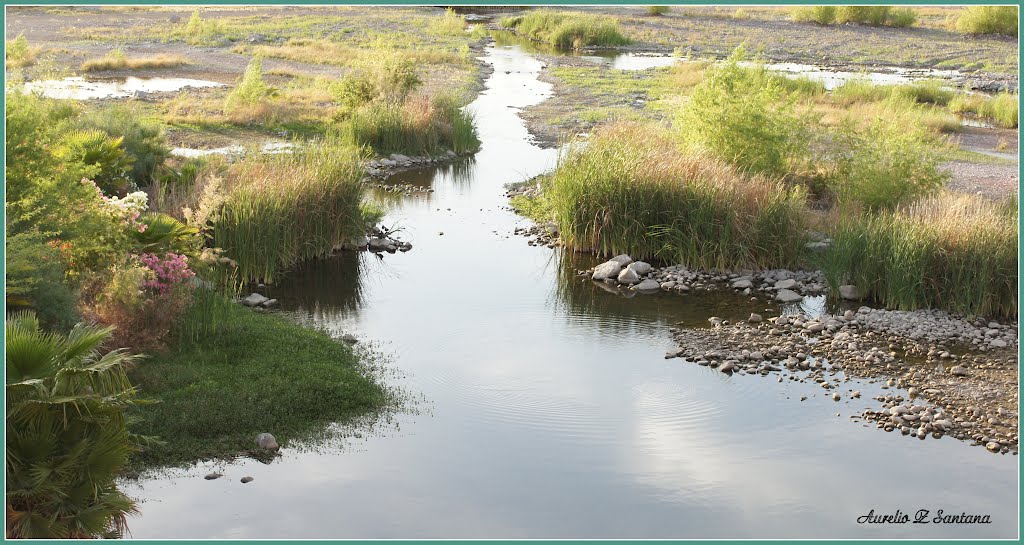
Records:
<instances>
[{"instance_id":1,"label":"green fan palm in the bottom left corner","mask_svg":"<svg viewBox=\"0 0 1024 545\"><path fill-rule=\"evenodd\" d=\"M135 358L99 348L110 328L45 333L31 313L7 319L8 538L121 537L135 504L115 478L136 449L125 412Z\"/></svg>"}]
</instances>

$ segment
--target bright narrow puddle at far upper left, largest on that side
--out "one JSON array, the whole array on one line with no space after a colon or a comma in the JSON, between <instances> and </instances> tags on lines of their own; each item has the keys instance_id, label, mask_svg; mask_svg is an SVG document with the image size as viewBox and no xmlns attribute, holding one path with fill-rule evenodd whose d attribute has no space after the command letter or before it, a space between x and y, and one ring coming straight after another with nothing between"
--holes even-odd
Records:
<instances>
[{"instance_id":1,"label":"bright narrow puddle at far upper left, largest on that side","mask_svg":"<svg viewBox=\"0 0 1024 545\"><path fill-rule=\"evenodd\" d=\"M188 78L125 78L123 80L87 80L74 77L62 80L30 81L24 92L38 92L50 98L93 100L97 98L130 98L141 93L175 92L187 88L223 87L223 83Z\"/></svg>"}]
</instances>

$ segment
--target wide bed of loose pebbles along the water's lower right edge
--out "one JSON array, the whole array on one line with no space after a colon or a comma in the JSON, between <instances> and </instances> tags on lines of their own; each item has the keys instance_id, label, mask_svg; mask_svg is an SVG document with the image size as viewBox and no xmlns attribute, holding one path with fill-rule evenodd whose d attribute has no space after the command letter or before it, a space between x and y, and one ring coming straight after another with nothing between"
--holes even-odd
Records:
<instances>
[{"instance_id":1,"label":"wide bed of loose pebbles along the water's lower right edge","mask_svg":"<svg viewBox=\"0 0 1024 545\"><path fill-rule=\"evenodd\" d=\"M880 383L882 389L903 388L921 403L900 405L901 395L877 396L883 407L865 410L859 417L914 437L950 435L973 439L993 452L1016 453L1016 349L955 353L942 344L955 338L951 335L940 343L929 340L936 335L911 339L904 334L913 328L928 330L930 321L958 321L958 329L977 328L971 322L951 316L938 322L933 312L918 311L902 316L911 324L921 319L912 328L880 329L888 312L863 306L835 317L765 320L755 313L735 324L713 317L711 328L673 328L679 348L666 358L683 358L729 374L777 374L780 382L783 377L814 382L831 391L837 402L860 396L859 390L846 385L853 378ZM985 326L986 331L1007 329Z\"/></svg>"}]
</instances>

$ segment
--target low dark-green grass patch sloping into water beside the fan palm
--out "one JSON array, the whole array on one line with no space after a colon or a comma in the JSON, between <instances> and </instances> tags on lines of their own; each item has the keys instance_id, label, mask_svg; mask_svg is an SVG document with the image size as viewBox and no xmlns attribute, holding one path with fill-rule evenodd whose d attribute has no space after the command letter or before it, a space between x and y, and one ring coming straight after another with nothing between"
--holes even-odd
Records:
<instances>
[{"instance_id":1,"label":"low dark-green grass patch sloping into water beside the fan palm","mask_svg":"<svg viewBox=\"0 0 1024 545\"><path fill-rule=\"evenodd\" d=\"M283 446L315 438L388 403L347 345L239 305L216 333L144 360L131 379L159 402L134 411L132 431L164 441L133 459L136 469L257 454L262 432Z\"/></svg>"}]
</instances>

